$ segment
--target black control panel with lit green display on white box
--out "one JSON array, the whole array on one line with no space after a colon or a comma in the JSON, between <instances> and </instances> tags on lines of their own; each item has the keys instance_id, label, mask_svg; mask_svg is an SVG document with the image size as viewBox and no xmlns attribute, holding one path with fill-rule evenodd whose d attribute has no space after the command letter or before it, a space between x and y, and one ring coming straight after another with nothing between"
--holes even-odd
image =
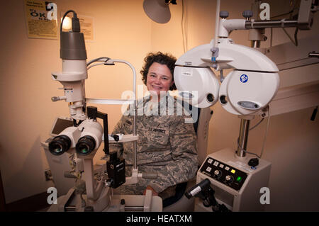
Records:
<instances>
[{"instance_id":1,"label":"black control panel with lit green display on white box","mask_svg":"<svg viewBox=\"0 0 319 226\"><path fill-rule=\"evenodd\" d=\"M228 164L208 157L200 169L202 174L210 176L212 179L224 183L230 188L239 191L247 179L247 174Z\"/></svg>"}]
</instances>

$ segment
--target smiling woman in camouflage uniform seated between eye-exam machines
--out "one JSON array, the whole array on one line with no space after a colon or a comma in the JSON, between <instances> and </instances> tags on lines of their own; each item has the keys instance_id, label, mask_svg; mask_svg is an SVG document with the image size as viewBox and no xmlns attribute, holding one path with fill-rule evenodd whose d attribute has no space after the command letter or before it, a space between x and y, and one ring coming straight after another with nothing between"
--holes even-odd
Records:
<instances>
[{"instance_id":1,"label":"smiling woman in camouflage uniform seated between eye-exam machines","mask_svg":"<svg viewBox=\"0 0 319 226\"><path fill-rule=\"evenodd\" d=\"M145 57L140 71L142 81L150 91L138 101L136 118L138 171L155 172L157 179L138 179L138 183L116 188L115 193L145 194L150 189L155 196L174 196L178 183L194 179L198 155L196 134L192 123L185 123L187 116L181 101L169 95L169 90L177 89L174 84L174 64L172 55L157 52ZM143 114L140 111L143 110ZM126 112L113 130L113 134L133 133L133 114ZM133 165L133 142L110 144L111 152L117 151L125 159L126 173L130 176Z\"/></svg>"}]
</instances>

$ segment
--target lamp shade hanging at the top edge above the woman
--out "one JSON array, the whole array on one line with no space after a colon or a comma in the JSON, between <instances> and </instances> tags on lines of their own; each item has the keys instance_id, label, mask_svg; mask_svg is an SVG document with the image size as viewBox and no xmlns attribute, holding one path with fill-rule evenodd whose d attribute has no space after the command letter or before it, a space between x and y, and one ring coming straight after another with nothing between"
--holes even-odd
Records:
<instances>
[{"instance_id":1,"label":"lamp shade hanging at the top edge above the woman","mask_svg":"<svg viewBox=\"0 0 319 226\"><path fill-rule=\"evenodd\" d=\"M176 5L176 0L144 0L143 8L152 21L167 23L171 19L169 4Z\"/></svg>"}]
</instances>

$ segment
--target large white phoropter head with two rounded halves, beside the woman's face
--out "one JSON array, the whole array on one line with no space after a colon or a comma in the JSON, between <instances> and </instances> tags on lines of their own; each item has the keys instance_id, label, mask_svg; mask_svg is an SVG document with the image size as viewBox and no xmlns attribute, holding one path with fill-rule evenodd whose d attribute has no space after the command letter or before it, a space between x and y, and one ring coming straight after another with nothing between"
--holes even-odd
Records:
<instances>
[{"instance_id":1,"label":"large white phoropter head with two rounded halves, beside the woman's face","mask_svg":"<svg viewBox=\"0 0 319 226\"><path fill-rule=\"evenodd\" d=\"M212 106L220 98L223 108L235 115L248 115L266 107L279 89L276 64L258 50L235 45L229 38L218 40L219 54L213 59L213 43L211 40L210 44L194 47L179 57L174 70L177 89L182 94L198 91L197 96L189 98L199 108ZM210 67L235 70L219 85Z\"/></svg>"}]
</instances>

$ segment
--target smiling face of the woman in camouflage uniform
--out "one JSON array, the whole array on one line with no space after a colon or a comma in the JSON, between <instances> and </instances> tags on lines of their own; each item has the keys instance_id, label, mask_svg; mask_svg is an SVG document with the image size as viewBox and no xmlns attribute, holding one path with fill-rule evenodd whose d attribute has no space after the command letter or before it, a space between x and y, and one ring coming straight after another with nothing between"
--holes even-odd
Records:
<instances>
[{"instance_id":1,"label":"smiling face of the woman in camouflage uniform","mask_svg":"<svg viewBox=\"0 0 319 226\"><path fill-rule=\"evenodd\" d=\"M160 92L169 91L169 87L174 84L173 75L167 65L159 64L157 62L152 63L150 69L148 69L146 87L152 94L157 94L158 98Z\"/></svg>"}]
</instances>

